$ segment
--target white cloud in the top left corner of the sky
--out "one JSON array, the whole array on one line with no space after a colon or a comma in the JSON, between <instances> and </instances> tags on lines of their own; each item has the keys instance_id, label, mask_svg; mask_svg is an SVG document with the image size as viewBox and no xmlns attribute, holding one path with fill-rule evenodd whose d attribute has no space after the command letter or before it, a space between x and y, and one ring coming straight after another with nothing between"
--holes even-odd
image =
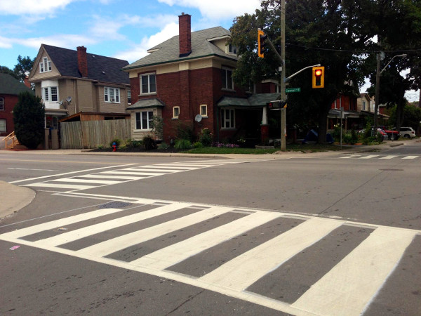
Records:
<instances>
[{"instance_id":1,"label":"white cloud in the top left corner of the sky","mask_svg":"<svg viewBox=\"0 0 421 316\"><path fill-rule=\"evenodd\" d=\"M48 15L77 0L1 0L0 15Z\"/></svg>"}]
</instances>

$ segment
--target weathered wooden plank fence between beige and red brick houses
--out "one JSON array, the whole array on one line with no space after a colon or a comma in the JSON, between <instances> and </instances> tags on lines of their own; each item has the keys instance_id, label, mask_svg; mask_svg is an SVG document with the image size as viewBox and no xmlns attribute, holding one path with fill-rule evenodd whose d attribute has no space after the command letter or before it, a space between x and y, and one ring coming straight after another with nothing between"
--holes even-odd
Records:
<instances>
[{"instance_id":1,"label":"weathered wooden plank fence between beige and red brick houses","mask_svg":"<svg viewBox=\"0 0 421 316\"><path fill-rule=\"evenodd\" d=\"M106 121L70 121L60 123L63 149L109 147L114 138L131 138L131 121L114 119Z\"/></svg>"}]
</instances>

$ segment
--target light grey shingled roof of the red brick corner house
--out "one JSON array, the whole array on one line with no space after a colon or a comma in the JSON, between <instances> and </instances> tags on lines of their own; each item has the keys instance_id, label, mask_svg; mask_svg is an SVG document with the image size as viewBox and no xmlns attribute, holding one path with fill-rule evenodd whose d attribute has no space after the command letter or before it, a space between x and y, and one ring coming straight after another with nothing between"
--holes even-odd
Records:
<instances>
[{"instance_id":1,"label":"light grey shingled roof of the red brick corner house","mask_svg":"<svg viewBox=\"0 0 421 316\"><path fill-rule=\"evenodd\" d=\"M236 55L227 54L222 49L212 44L210 40L230 37L231 33L223 27L213 27L210 29L202 29L201 31L192 32L192 53L187 56L180 57L179 37L175 36L163 43L149 49L149 55L141 58L132 64L123 67L123 70L130 70L138 67L159 65L168 62L180 62L182 60L191 60L207 56L219 56L230 60L237 60Z\"/></svg>"}]
</instances>

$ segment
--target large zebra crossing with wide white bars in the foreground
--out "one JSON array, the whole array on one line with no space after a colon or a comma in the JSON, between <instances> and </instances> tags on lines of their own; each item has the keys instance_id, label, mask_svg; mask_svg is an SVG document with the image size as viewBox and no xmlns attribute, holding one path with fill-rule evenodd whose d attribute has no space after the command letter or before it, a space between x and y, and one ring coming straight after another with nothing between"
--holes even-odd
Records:
<instances>
[{"instance_id":1,"label":"large zebra crossing with wide white bars in the foreground","mask_svg":"<svg viewBox=\"0 0 421 316\"><path fill-rule=\"evenodd\" d=\"M65 194L83 195L80 192ZM0 239L173 279L293 315L360 315L392 274L415 236L421 233L258 209L119 199L129 202L128 206L79 211L72 216L5 232ZM216 218L218 223L206 226ZM148 220L154 221L149 223ZM282 223L283 228L280 228ZM199 232L196 231L198 225ZM240 244L237 239L248 238L248 235L254 240L266 235L255 232L257 228L262 230L269 226L276 228L274 235L254 242L241 254L229 260L224 257L220 264L199 275L189 270L194 265L190 263L198 256L218 256L225 243ZM367 230L366 236L347 249L338 263L333 263L330 270L294 301L268 297L253 287L306 249L319 247L321 240L328 239L337 230L343 234L346 230L361 228ZM173 241L172 237L179 232L189 230L190 235ZM171 238L165 238L167 235ZM165 240L166 244L158 249L149 247L158 239ZM148 251L139 255L142 246ZM127 256L134 252L133 247L137 255ZM205 265L204 262L200 257L199 263ZM209 265L206 268L209 269ZM308 269L316 269L314 263L308 262Z\"/></svg>"}]
</instances>

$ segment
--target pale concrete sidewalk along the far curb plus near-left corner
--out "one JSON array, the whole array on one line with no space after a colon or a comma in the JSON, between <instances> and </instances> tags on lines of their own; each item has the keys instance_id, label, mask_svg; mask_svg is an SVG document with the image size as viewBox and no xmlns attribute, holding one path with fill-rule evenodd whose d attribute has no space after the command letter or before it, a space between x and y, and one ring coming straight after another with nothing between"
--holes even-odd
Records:
<instances>
[{"instance_id":1,"label":"pale concrete sidewalk along the far curb plus near-left corner","mask_svg":"<svg viewBox=\"0 0 421 316\"><path fill-rule=\"evenodd\" d=\"M185 154L185 153L161 153L161 152L89 152L88 150L0 150L0 154L66 154L66 155L105 155L125 157L189 157L203 159L289 159L293 157L329 157L338 154L349 154L354 152L380 151L389 147L413 143L417 140L395 140L383 142L380 145L364 146L343 146L342 151L330 152L279 152L277 154ZM11 215L15 211L27 206L36 193L28 187L19 187L0 180L0 220Z\"/></svg>"}]
</instances>

